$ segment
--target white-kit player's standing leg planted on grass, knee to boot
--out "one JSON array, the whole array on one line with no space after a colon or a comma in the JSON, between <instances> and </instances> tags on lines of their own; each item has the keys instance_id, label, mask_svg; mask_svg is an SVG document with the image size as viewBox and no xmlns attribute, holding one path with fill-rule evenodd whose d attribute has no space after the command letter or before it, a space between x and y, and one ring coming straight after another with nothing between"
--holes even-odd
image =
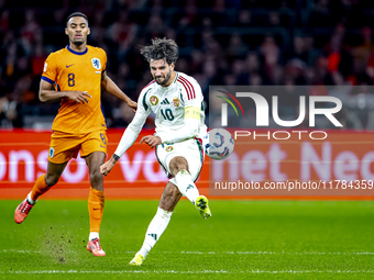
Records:
<instances>
[{"instance_id":1,"label":"white-kit player's standing leg planted on grass, knee to boot","mask_svg":"<svg viewBox=\"0 0 374 280\"><path fill-rule=\"evenodd\" d=\"M161 235L166 229L173 211L182 197L178 188L170 181L167 182L163 195L161 197L157 213L151 221L145 233L145 239L142 248L135 254L135 257L130 261L131 266L141 266L148 255L150 250L160 239Z\"/></svg>"}]
</instances>

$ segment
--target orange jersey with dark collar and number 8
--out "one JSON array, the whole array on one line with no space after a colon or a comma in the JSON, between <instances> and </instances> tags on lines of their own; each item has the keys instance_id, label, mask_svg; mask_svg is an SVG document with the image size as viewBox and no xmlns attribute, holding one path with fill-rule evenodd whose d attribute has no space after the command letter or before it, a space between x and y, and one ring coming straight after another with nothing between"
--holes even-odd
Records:
<instances>
[{"instance_id":1,"label":"orange jersey with dark collar and number 8","mask_svg":"<svg viewBox=\"0 0 374 280\"><path fill-rule=\"evenodd\" d=\"M106 65L106 52L92 46L87 46L82 53L67 46L47 57L43 80L54 85L58 91L79 90L91 96L85 104L64 98L53 122L53 131L85 134L107 128L101 110L101 74Z\"/></svg>"}]
</instances>

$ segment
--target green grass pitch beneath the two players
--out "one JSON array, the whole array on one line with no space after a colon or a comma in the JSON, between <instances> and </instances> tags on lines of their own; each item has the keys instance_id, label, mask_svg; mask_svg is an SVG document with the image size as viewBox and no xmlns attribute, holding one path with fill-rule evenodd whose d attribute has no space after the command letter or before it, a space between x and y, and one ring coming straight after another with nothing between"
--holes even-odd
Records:
<instances>
[{"instance_id":1,"label":"green grass pitch beneath the two players","mask_svg":"<svg viewBox=\"0 0 374 280\"><path fill-rule=\"evenodd\" d=\"M40 200L23 224L0 201L2 279L374 279L374 201L188 201L142 267L157 201L107 201L103 258L86 250L87 201Z\"/></svg>"}]
</instances>

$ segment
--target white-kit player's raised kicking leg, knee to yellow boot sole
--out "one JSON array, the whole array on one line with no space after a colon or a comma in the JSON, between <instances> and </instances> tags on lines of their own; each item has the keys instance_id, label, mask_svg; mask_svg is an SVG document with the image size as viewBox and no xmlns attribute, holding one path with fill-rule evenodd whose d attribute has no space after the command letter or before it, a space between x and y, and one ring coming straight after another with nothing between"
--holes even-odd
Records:
<instances>
[{"instance_id":1,"label":"white-kit player's raised kicking leg, knee to yellow boot sole","mask_svg":"<svg viewBox=\"0 0 374 280\"><path fill-rule=\"evenodd\" d=\"M211 216L208 199L205 195L200 195L193 176L188 171L186 158L182 156L174 157L169 163L169 169L175 176L176 184L182 194L195 204L204 219Z\"/></svg>"}]
</instances>

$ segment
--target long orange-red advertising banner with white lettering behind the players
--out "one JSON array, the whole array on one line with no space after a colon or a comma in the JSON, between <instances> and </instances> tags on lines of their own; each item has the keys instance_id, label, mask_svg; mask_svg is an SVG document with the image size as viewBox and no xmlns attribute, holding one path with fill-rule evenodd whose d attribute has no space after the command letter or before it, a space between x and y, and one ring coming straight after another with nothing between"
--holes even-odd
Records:
<instances>
[{"instance_id":1,"label":"long orange-red advertising banner with white lettering behind the players","mask_svg":"<svg viewBox=\"0 0 374 280\"><path fill-rule=\"evenodd\" d=\"M317 139L321 135L310 137L310 132L304 132L290 133L289 138L280 139L287 137L285 132L230 132L237 136L232 155L224 160L205 158L197 187L206 195L217 199L374 198L374 133L328 131L328 137ZM122 133L123 130L108 131L109 156L114 153ZM143 130L105 178L108 199L161 197L167 178L154 149L139 143L141 137L153 133L153 130ZM51 134L23 130L0 132L0 199L23 199L31 191L36 178L46 171ZM78 157L70 160L58 183L43 198L85 199L88 192L88 169Z\"/></svg>"}]
</instances>

